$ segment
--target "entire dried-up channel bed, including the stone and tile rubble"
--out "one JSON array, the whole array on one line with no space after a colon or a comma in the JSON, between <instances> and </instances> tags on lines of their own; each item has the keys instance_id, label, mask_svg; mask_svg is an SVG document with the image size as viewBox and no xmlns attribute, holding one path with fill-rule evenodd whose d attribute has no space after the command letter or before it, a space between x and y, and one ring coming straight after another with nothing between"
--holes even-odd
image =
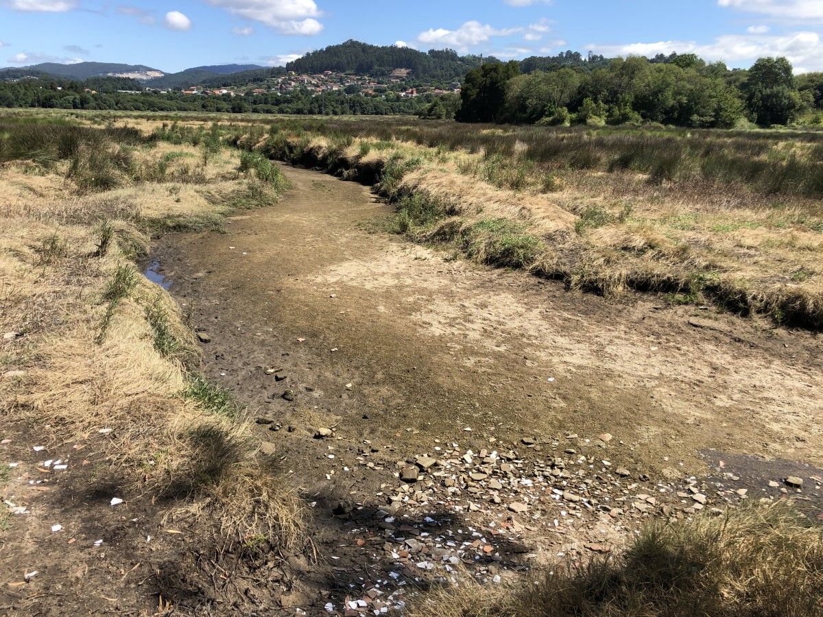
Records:
<instances>
[{"instance_id":1,"label":"entire dried-up channel bed, including the stone and tile rubble","mask_svg":"<svg viewBox=\"0 0 823 617\"><path fill-rule=\"evenodd\" d=\"M153 256L204 372L314 508L324 563L292 559L284 611L389 610L426 576L498 581L653 515L820 505L819 337L451 261L374 231L391 210L369 189L284 170L279 205Z\"/></svg>"}]
</instances>

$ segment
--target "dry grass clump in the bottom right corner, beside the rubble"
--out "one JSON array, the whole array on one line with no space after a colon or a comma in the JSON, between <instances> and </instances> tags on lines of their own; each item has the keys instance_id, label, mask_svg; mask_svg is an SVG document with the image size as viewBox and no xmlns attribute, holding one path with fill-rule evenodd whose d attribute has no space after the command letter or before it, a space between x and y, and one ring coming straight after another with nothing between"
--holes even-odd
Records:
<instances>
[{"instance_id":1,"label":"dry grass clump in the bottom right corner, beside the rubble","mask_svg":"<svg viewBox=\"0 0 823 617\"><path fill-rule=\"evenodd\" d=\"M823 528L785 502L650 522L616 556L504 587L460 580L421 598L408 615L823 615Z\"/></svg>"}]
</instances>

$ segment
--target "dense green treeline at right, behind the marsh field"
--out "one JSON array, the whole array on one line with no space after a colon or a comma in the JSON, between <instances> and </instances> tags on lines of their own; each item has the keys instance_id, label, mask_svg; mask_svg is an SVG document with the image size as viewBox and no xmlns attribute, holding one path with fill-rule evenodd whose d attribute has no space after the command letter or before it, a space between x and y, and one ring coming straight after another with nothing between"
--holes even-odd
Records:
<instances>
[{"instance_id":1,"label":"dense green treeline at right, behind the marsh field","mask_svg":"<svg viewBox=\"0 0 823 617\"><path fill-rule=\"evenodd\" d=\"M695 54L570 60L528 73L524 66L537 66L532 58L472 69L458 119L728 128L744 119L761 126L793 123L823 104L823 73L796 78L786 58L760 58L748 71L707 64Z\"/></svg>"}]
</instances>

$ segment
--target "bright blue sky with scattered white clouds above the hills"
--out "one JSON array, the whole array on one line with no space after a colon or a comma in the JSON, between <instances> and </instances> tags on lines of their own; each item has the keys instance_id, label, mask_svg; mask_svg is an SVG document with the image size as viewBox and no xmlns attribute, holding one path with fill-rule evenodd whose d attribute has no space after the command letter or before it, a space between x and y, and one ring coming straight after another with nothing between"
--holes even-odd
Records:
<instances>
[{"instance_id":1,"label":"bright blue sky with scattered white clouds above the hills","mask_svg":"<svg viewBox=\"0 0 823 617\"><path fill-rule=\"evenodd\" d=\"M278 65L359 39L523 58L695 52L823 70L823 0L0 0L0 66Z\"/></svg>"}]
</instances>

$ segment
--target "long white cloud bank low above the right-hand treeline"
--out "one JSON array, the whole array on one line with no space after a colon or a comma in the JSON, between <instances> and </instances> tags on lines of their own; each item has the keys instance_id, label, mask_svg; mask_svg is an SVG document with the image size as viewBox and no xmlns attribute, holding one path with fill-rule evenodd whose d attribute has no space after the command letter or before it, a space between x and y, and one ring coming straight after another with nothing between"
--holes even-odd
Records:
<instances>
[{"instance_id":1,"label":"long white cloud bank low above the right-hand treeline","mask_svg":"<svg viewBox=\"0 0 823 617\"><path fill-rule=\"evenodd\" d=\"M722 35L710 44L698 44L693 40L667 40L654 43L589 45L588 48L607 56L697 53L707 60L723 60L744 66L754 63L757 58L785 56L794 65L797 73L823 70L823 41L821 35L811 31L787 35Z\"/></svg>"}]
</instances>

